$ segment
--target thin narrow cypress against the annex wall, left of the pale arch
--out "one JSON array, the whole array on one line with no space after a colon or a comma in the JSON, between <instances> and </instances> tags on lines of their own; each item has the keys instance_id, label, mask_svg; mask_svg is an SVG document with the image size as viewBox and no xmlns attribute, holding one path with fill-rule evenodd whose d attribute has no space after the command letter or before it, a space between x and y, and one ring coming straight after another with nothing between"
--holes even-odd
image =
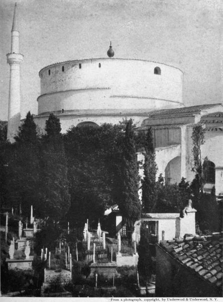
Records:
<instances>
[{"instance_id":1,"label":"thin narrow cypress against the annex wall, left of the pale arch","mask_svg":"<svg viewBox=\"0 0 223 302\"><path fill-rule=\"evenodd\" d=\"M155 149L153 145L153 135L151 128L148 129L145 138L145 161L144 178L142 180L142 202L145 212L151 211L157 199L156 173L157 165L155 162Z\"/></svg>"}]
</instances>

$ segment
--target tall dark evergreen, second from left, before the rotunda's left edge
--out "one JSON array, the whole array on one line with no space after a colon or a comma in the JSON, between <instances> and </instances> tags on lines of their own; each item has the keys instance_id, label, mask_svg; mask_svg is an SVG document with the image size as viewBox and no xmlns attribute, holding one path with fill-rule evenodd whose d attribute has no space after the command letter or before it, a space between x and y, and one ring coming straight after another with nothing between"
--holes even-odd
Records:
<instances>
[{"instance_id":1,"label":"tall dark evergreen, second from left, before the rotunda's left edge","mask_svg":"<svg viewBox=\"0 0 223 302\"><path fill-rule=\"evenodd\" d=\"M67 160L60 133L60 120L50 114L45 130L41 157L41 214L59 220L70 208Z\"/></svg>"}]
</instances>

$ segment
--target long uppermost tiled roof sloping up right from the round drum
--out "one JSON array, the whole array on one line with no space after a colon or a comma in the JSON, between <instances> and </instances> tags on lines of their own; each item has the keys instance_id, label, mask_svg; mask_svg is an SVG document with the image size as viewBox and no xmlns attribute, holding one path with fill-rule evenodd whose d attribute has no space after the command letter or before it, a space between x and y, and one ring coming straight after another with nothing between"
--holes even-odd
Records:
<instances>
[{"instance_id":1,"label":"long uppermost tiled roof sloping up right from the round drum","mask_svg":"<svg viewBox=\"0 0 223 302\"><path fill-rule=\"evenodd\" d=\"M196 105L196 106L189 106L189 107L181 107L181 108L174 108L174 109L163 109L160 110L159 112L154 112L149 114L151 118L157 118L157 117L164 117L168 115L173 115L173 114L186 114L186 113L199 113L201 110L212 108L215 106L221 105L220 103L218 104L204 104L204 105Z\"/></svg>"}]
</instances>

